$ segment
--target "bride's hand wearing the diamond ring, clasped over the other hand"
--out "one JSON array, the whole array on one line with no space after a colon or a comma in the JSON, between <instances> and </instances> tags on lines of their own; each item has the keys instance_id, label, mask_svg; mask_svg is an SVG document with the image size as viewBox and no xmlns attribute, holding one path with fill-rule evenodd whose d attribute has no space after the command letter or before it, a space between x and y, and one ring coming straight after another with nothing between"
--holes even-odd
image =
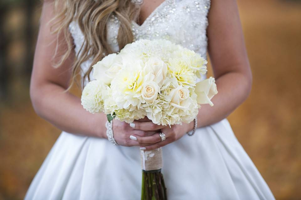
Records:
<instances>
[{"instance_id":1,"label":"bride's hand wearing the diamond ring, clasped over the other hand","mask_svg":"<svg viewBox=\"0 0 301 200\"><path fill-rule=\"evenodd\" d=\"M152 122L134 121L134 123L135 130L152 130L152 133L153 131L156 131L155 134L153 133L150 135L132 134L132 136L136 138L135 142L140 144L140 149L146 151L160 148L165 146L166 144L177 141L178 139L182 138L185 133L191 131L194 127L194 122L191 122L189 124L182 123L182 125L176 124L172 125L171 127L162 125L159 126ZM166 140L161 141L161 137L159 135L160 132L165 134Z\"/></svg>"}]
</instances>

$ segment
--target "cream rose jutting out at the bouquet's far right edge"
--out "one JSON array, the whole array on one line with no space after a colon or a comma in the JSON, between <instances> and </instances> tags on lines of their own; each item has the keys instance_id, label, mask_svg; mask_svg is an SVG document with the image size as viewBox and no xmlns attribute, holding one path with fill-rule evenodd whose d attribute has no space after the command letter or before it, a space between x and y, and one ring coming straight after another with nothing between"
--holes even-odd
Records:
<instances>
[{"instance_id":1,"label":"cream rose jutting out at the bouquet's far right edge","mask_svg":"<svg viewBox=\"0 0 301 200\"><path fill-rule=\"evenodd\" d=\"M207 78L195 86L195 93L198 95L198 104L209 104L213 106L211 99L218 93L214 78Z\"/></svg>"}]
</instances>

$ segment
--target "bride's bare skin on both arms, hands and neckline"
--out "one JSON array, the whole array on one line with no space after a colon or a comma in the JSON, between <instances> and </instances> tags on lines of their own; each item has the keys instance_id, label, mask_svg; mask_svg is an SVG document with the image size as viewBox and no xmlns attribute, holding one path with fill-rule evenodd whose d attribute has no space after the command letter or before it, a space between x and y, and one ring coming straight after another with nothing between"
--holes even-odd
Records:
<instances>
[{"instance_id":1,"label":"bride's bare skin on both arms, hands and neckline","mask_svg":"<svg viewBox=\"0 0 301 200\"><path fill-rule=\"evenodd\" d=\"M162 0L146 1L141 6L139 22L159 6ZM30 97L36 113L57 128L68 133L107 138L103 113L91 114L84 110L78 97L64 92L71 79L71 66L75 53L59 68L52 67L56 36L50 34L48 22L53 16L51 1L43 4L40 32L37 41L34 66L30 84ZM252 84L250 65L240 25L235 0L212 0L208 16L208 52L219 93L214 96L214 107L203 105L198 114L198 127L208 126L226 118L246 100ZM66 48L63 36L59 35L60 49ZM202 117L206 116L206 117ZM193 129L194 123L159 126L148 119L128 123L113 121L114 138L122 146L140 146L146 150L163 147L182 138ZM158 132L166 135L161 141ZM129 139L133 135L137 140Z\"/></svg>"}]
</instances>

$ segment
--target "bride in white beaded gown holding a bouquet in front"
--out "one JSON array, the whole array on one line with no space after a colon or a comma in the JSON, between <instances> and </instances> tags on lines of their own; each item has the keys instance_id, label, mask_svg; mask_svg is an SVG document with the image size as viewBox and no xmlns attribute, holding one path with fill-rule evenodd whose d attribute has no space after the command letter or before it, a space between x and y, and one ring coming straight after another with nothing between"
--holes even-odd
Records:
<instances>
[{"instance_id":1,"label":"bride in white beaded gown holding a bouquet in front","mask_svg":"<svg viewBox=\"0 0 301 200\"><path fill-rule=\"evenodd\" d=\"M171 128L114 120L113 145L106 116L84 110L67 89L77 73L84 86L93 64L141 38L168 39L203 57L208 50L219 93L214 107L199 110L206 118L194 131L196 120ZM30 96L36 113L63 132L25 199L140 199L139 151L159 147L168 199L274 199L225 119L251 82L235 0L45 0Z\"/></svg>"}]
</instances>

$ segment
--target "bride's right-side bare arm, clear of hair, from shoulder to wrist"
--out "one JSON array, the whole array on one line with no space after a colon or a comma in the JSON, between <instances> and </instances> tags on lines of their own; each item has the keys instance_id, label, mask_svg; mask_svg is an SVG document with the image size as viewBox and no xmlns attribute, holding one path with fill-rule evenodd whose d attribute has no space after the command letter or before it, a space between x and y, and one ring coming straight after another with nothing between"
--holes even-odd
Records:
<instances>
[{"instance_id":1,"label":"bride's right-side bare arm, clear of hair, from shoulder to wrist","mask_svg":"<svg viewBox=\"0 0 301 200\"><path fill-rule=\"evenodd\" d=\"M208 52L219 93L213 107L199 109L198 127L226 118L246 100L252 85L236 1L213 0L208 20Z\"/></svg>"}]
</instances>

